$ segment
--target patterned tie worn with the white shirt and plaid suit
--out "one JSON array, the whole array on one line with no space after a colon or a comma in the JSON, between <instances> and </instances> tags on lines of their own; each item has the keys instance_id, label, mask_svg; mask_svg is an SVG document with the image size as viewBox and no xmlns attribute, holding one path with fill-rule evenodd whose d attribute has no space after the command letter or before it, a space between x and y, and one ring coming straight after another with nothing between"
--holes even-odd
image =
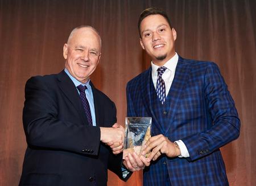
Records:
<instances>
[{"instance_id":1,"label":"patterned tie worn with the white shirt and plaid suit","mask_svg":"<svg viewBox=\"0 0 256 186\"><path fill-rule=\"evenodd\" d=\"M164 71L166 71L166 67L159 67L158 68L158 80L156 81L156 94L162 104L166 101L166 85L164 84L164 80L162 75Z\"/></svg>"}]
</instances>

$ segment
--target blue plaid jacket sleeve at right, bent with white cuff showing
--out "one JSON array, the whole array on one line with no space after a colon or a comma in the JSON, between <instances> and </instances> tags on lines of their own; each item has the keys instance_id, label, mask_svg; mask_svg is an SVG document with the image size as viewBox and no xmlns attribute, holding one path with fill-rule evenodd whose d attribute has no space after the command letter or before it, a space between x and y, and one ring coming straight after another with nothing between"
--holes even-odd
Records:
<instances>
[{"instance_id":1,"label":"blue plaid jacket sleeve at right, bent with white cuff showing","mask_svg":"<svg viewBox=\"0 0 256 186\"><path fill-rule=\"evenodd\" d=\"M217 65L210 63L204 75L204 99L209 112L208 130L181 139L189 152L189 161L206 156L240 134L240 119L234 101ZM202 123L202 125L209 125Z\"/></svg>"}]
</instances>

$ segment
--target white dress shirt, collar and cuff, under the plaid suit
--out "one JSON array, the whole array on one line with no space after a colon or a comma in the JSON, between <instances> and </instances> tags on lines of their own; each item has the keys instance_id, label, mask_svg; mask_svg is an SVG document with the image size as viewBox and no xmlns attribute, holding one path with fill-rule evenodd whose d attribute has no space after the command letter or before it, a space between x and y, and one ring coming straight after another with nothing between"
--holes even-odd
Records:
<instances>
[{"instance_id":1,"label":"white dress shirt, collar and cuff, under the plaid suit","mask_svg":"<svg viewBox=\"0 0 256 186\"><path fill-rule=\"evenodd\" d=\"M172 85L172 81L174 81L174 76L175 76L175 69L176 69L176 66L177 66L177 61L179 59L179 56L177 55L177 53L175 52L175 55L174 57L172 57L170 60L168 60L164 65L163 67L166 67L166 71L164 71L163 75L162 75L162 78L164 80L164 84L166 86L166 96L168 96L168 93L170 91L170 88L171 88L171 85ZM153 81L153 84L155 86L155 89L156 89L156 81L158 79L158 68L159 66L158 65L155 65L152 61L151 61L151 68L152 68L152 81ZM175 141L179 147L180 147L180 153L181 155L179 156L180 158L181 157L184 157L184 158L187 158L189 157L189 153L188 153L188 149L187 147L185 146L185 144L183 143L182 140L177 140Z\"/></svg>"}]
</instances>

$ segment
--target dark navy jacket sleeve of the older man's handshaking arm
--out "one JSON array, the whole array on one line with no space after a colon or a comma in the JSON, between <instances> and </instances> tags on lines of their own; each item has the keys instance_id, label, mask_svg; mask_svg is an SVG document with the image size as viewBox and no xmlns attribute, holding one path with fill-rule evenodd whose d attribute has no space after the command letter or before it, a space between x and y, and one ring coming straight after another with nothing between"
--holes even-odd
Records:
<instances>
[{"instance_id":1,"label":"dark navy jacket sleeve of the older man's handshaking arm","mask_svg":"<svg viewBox=\"0 0 256 186\"><path fill-rule=\"evenodd\" d=\"M28 146L97 155L100 127L61 120L57 104L60 100L46 81L37 76L26 83L23 127Z\"/></svg>"}]
</instances>

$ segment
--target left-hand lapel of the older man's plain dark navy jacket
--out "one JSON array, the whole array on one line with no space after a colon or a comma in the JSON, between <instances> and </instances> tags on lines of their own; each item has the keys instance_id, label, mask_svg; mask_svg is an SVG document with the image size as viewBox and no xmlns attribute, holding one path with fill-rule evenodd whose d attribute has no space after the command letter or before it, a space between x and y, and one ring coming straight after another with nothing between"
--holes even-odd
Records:
<instances>
[{"instance_id":1,"label":"left-hand lapel of the older man's plain dark navy jacket","mask_svg":"<svg viewBox=\"0 0 256 186\"><path fill-rule=\"evenodd\" d=\"M72 103L72 105L76 108L78 111L82 121L84 123L87 123L88 121L84 114L84 109L82 108L82 102L79 97L79 93L77 92L76 86L72 82L71 78L68 77L68 75L65 73L65 71L61 71L57 75L58 85L60 90L65 94L67 99Z\"/></svg>"}]
</instances>

